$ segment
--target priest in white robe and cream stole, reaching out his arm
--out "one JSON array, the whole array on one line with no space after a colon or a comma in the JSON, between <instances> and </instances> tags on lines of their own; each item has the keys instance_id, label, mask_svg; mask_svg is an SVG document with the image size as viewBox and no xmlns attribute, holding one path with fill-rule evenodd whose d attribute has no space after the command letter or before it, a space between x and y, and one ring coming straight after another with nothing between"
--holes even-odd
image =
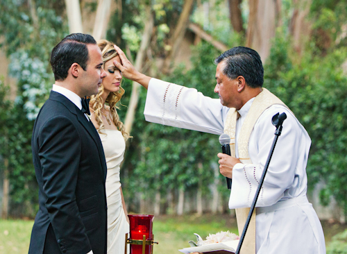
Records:
<instances>
[{"instance_id":1,"label":"priest in white robe and cream stole, reaching out his arm","mask_svg":"<svg viewBox=\"0 0 347 254\"><path fill-rule=\"evenodd\" d=\"M232 178L229 208L236 209L239 232L273 142L275 127L271 119L285 112L287 119L241 253L325 253L321 223L306 197L311 139L287 105L262 87L264 69L256 51L237 46L215 59L214 92L219 99L211 99L195 89L139 73L123 51L117 46L115 49L121 59L115 62L116 67L148 90L146 121L230 136L232 154L218 154L219 169L223 176Z\"/></svg>"}]
</instances>

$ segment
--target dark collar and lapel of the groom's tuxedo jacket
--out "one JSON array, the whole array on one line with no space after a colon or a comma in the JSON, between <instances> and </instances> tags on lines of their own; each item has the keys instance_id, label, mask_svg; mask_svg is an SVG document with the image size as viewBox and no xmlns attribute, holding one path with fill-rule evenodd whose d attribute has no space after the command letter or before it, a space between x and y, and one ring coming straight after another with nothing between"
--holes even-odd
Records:
<instances>
[{"instance_id":1,"label":"dark collar and lapel of the groom's tuxedo jacket","mask_svg":"<svg viewBox=\"0 0 347 254\"><path fill-rule=\"evenodd\" d=\"M51 94L49 95L49 99L52 99L54 101L59 101L60 103L64 104L65 107L67 107L67 109L72 114L76 115L78 121L81 123L81 125L87 130L87 132L92 137L96 145L96 148L99 151L99 158L103 168L103 171L101 172L101 176L103 178L103 182L105 183L106 174L107 174L105 153L103 153L103 146L101 143L101 139L94 125L92 124L92 121L88 121L85 115L82 113L82 111L79 108L77 108L77 106L72 101L67 99L67 97L65 97L64 95L59 94L58 92L51 91Z\"/></svg>"}]
</instances>

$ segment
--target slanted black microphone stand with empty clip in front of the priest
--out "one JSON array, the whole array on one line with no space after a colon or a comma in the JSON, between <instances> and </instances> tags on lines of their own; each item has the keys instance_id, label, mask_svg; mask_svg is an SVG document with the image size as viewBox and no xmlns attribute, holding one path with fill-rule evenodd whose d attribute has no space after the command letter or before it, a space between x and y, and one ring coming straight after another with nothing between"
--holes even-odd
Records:
<instances>
[{"instance_id":1,"label":"slanted black microphone stand with empty clip in front of the priest","mask_svg":"<svg viewBox=\"0 0 347 254\"><path fill-rule=\"evenodd\" d=\"M259 183L259 185L257 187L257 192L255 192L255 196L253 198L251 209L248 212L248 217L246 219L246 223L244 224L244 230L242 231L242 235L241 235L241 237L239 239L239 244L237 245L237 249L236 249L235 254L239 254L239 251L241 250L242 243L244 242L244 237L246 235L247 228L249 226L249 222L251 221L251 217L252 217L253 211L255 209L255 204L257 203L257 199L258 199L258 196L260 194L260 189L262 189L262 184L264 183L264 178L265 178L265 175L266 175L266 171L269 168L269 163L270 163L270 160L271 160L271 157L272 157L272 154L273 154L273 150L275 149L278 137L280 137L280 135L282 133L282 124L283 124L283 121L285 121L286 118L287 118L287 115L285 113L282 113L281 115L280 115L280 113L277 113L276 115L274 115L272 117L272 124L274 126L276 126L275 138L273 139L273 143L272 143L272 146L271 146L271 149L270 149L270 153L269 153L269 156L268 156L268 158L266 160L264 171L262 172L262 177L260 178L260 183Z\"/></svg>"}]
</instances>

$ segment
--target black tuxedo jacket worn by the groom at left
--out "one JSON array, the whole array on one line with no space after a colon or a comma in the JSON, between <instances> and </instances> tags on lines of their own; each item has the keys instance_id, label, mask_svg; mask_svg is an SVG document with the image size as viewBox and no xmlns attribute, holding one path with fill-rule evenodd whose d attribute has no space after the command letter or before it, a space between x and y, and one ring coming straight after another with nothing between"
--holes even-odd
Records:
<instances>
[{"instance_id":1,"label":"black tuxedo jacket worn by the groom at left","mask_svg":"<svg viewBox=\"0 0 347 254\"><path fill-rule=\"evenodd\" d=\"M39 185L29 254L104 254L106 162L100 137L74 103L51 92L31 140Z\"/></svg>"}]
</instances>

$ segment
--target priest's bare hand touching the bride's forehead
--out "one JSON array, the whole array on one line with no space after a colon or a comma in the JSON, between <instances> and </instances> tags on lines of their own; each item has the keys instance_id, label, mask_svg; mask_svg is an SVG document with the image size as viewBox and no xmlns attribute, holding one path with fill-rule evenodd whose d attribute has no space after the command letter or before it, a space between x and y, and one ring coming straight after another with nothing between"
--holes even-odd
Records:
<instances>
[{"instance_id":1,"label":"priest's bare hand touching the bride's forehead","mask_svg":"<svg viewBox=\"0 0 347 254\"><path fill-rule=\"evenodd\" d=\"M117 67L121 71L121 75L125 78L128 78L132 81L136 81L140 85L142 85L144 88L148 88L149 81L151 80L151 77L146 76L131 64L131 62L126 58L126 54L119 48L117 45L113 45L115 50L117 51L119 58L121 59L121 62L118 62L117 60L113 61L113 64L115 67Z\"/></svg>"}]
</instances>

